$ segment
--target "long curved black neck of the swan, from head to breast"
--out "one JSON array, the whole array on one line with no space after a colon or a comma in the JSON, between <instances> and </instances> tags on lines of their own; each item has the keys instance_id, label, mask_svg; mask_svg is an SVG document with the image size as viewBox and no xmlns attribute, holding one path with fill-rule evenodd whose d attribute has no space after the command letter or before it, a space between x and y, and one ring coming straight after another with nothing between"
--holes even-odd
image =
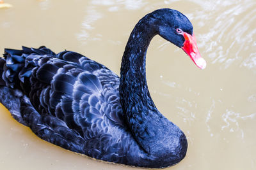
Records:
<instances>
[{"instance_id":1,"label":"long curved black neck of the swan, from head to breast","mask_svg":"<svg viewBox=\"0 0 256 170\"><path fill-rule=\"evenodd\" d=\"M154 135L152 118L159 111L152 101L146 80L146 54L151 39L156 35L150 20L142 18L134 27L122 58L120 103L128 125L138 144L147 153ZM150 115L150 117L148 117Z\"/></svg>"}]
</instances>

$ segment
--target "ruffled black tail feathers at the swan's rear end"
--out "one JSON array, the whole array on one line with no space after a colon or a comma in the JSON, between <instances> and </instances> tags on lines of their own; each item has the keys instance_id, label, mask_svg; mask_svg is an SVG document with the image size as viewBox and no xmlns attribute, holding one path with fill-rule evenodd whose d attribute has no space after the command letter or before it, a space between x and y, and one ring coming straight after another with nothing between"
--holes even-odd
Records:
<instances>
[{"instance_id":1,"label":"ruffled black tail feathers at the swan's rear end","mask_svg":"<svg viewBox=\"0 0 256 170\"><path fill-rule=\"evenodd\" d=\"M19 81L24 81L24 77L31 75L33 67L25 68L25 66L28 64L36 66L34 62L41 55L55 56L56 54L45 46L39 48L22 46L22 50L5 48L4 58L0 57L0 103L12 113L13 118L24 125L27 124L20 115L20 101L26 95L19 90ZM31 59L25 60L28 56L31 56Z\"/></svg>"}]
</instances>

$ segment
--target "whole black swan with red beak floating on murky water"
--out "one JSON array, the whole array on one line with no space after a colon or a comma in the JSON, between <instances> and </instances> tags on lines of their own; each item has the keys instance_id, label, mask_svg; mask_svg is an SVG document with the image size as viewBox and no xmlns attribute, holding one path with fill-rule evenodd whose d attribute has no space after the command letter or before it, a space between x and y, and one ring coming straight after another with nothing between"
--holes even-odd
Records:
<instances>
[{"instance_id":1,"label":"whole black swan with red beak floating on murky water","mask_svg":"<svg viewBox=\"0 0 256 170\"><path fill-rule=\"evenodd\" d=\"M191 22L179 11L160 9L131 32L120 78L76 52L5 49L0 102L36 136L67 150L129 166L177 164L186 155L186 136L159 113L145 76L147 48L156 34L204 69Z\"/></svg>"}]
</instances>

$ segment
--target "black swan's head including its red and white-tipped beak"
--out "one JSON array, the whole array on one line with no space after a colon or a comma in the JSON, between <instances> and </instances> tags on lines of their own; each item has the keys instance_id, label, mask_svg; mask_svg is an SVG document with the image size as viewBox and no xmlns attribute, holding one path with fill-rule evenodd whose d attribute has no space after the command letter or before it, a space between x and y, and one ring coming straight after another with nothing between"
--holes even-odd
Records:
<instances>
[{"instance_id":1,"label":"black swan's head including its red and white-tipped beak","mask_svg":"<svg viewBox=\"0 0 256 170\"><path fill-rule=\"evenodd\" d=\"M201 57L196 45L193 25L185 15L167 8L156 10L151 15L157 34L182 48L200 69L206 67L206 62Z\"/></svg>"}]
</instances>

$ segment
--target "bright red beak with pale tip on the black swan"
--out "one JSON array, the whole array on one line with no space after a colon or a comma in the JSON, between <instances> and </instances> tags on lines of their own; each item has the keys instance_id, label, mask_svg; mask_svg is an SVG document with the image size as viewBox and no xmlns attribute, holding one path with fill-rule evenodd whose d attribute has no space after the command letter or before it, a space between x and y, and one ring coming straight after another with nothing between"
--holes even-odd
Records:
<instances>
[{"instance_id":1,"label":"bright red beak with pale tip on the black swan","mask_svg":"<svg viewBox=\"0 0 256 170\"><path fill-rule=\"evenodd\" d=\"M206 67L206 62L201 57L197 48L195 34L191 36L190 34L183 32L183 36L185 38L185 42L182 46L182 50L189 55L193 62L195 62L196 66L198 66L200 69L204 69Z\"/></svg>"}]
</instances>

